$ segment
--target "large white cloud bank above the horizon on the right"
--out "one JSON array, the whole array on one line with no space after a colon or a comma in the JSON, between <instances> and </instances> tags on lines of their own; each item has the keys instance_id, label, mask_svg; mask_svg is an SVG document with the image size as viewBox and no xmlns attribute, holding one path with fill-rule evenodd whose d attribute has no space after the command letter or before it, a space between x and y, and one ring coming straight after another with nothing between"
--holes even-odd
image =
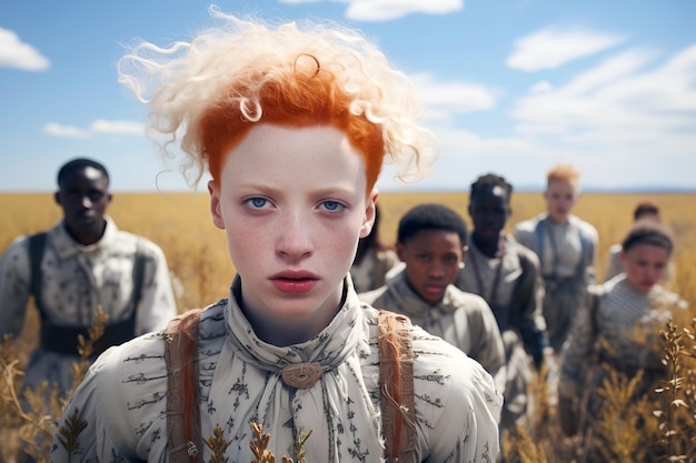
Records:
<instances>
[{"instance_id":1,"label":"large white cloud bank above the horizon on the right","mask_svg":"<svg viewBox=\"0 0 696 463\"><path fill-rule=\"evenodd\" d=\"M453 84L424 81L432 91ZM540 188L557 162L575 164L588 188L696 185L696 43L668 57L626 50L566 82L539 81L514 102L508 133L501 128L487 137L463 127L454 100L426 101L439 103L431 129L441 155L434 177L417 188L466 189L486 172ZM402 185L386 178L380 188Z\"/></svg>"}]
</instances>

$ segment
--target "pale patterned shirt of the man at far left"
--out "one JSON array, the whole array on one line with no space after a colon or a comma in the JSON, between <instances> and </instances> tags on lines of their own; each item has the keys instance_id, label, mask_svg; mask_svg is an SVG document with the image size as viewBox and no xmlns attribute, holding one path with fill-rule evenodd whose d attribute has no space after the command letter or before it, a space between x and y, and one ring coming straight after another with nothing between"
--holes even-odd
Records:
<instances>
[{"instance_id":1,"label":"pale patterned shirt of the man at far left","mask_svg":"<svg viewBox=\"0 0 696 463\"><path fill-rule=\"evenodd\" d=\"M151 241L120 231L110 218L101 240L83 245L67 232L63 222L47 235L41 261L41 291L48 320L56 324L89 328L97 308L109 316L107 323L128 319L133 311L133 265L140 243L145 272L136 334L159 330L177 314L165 254ZM24 322L31 286L28 238L16 239L0 260L0 335L18 335ZM26 372L24 385L41 381L72 386L72 363L77 355L38 348Z\"/></svg>"}]
</instances>

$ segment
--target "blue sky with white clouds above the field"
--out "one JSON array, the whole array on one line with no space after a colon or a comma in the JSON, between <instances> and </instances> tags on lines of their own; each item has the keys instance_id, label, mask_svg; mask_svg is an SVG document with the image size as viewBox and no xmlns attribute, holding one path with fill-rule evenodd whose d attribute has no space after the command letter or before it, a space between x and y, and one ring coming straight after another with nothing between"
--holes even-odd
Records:
<instances>
[{"instance_id":1,"label":"blue sky with white clouds above the field","mask_svg":"<svg viewBox=\"0 0 696 463\"><path fill-rule=\"evenodd\" d=\"M696 190L694 0L219 0L269 20L330 18L376 42L417 82L441 143L434 174L382 191L468 189L479 174L541 188L571 162L586 189ZM115 191L186 190L117 82L137 38L188 40L210 1L0 2L0 191L52 191L87 155ZM205 185L199 187L205 191Z\"/></svg>"}]
</instances>

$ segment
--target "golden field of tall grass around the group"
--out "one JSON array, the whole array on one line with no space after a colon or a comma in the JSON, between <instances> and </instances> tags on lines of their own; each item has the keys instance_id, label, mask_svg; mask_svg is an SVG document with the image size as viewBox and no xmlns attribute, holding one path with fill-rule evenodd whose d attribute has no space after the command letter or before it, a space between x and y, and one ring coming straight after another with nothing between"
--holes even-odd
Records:
<instances>
[{"instance_id":1,"label":"golden field of tall grass around the group","mask_svg":"<svg viewBox=\"0 0 696 463\"><path fill-rule=\"evenodd\" d=\"M608 457L606 461L648 461L645 452L655 443L654 441L660 441L663 446L667 441L674 445L669 451L665 451L668 453L667 456L672 457L669 461L694 461L696 456L689 452L696 449L696 425L694 424L696 380L694 380L689 356L694 356L696 352L693 334L696 326L692 324L692 319L696 313L696 268L694 266L696 262L696 194L585 193L574 212L593 223L599 232L597 273L601 279L609 246L620 242L632 223L635 204L643 200L652 200L659 204L663 221L674 232L676 240L674 261L677 278L670 282L670 289L678 292L692 309L683 315L683 319L675 321L672 334L666 328L667 345L672 345L673 349L670 354L666 353L666 361L680 363L678 374L673 378L672 385L667 384L663 394L668 399L663 405L663 412L655 413L653 409L656 405L653 404L642 405L643 410L628 413L635 404L620 405L620 400L626 396L625 392L630 384L623 384L619 381L612 386L614 389L609 387L608 393L615 394L617 412L607 417L613 424L609 423L606 432L610 434L612 431L616 435L606 444L609 447L607 454L615 455L615 457ZM379 198L382 214L380 230L382 241L392 243L401 214L412 205L422 202L447 204L459 211L470 223L467 214L468 194L465 192L385 192ZM515 192L513 217L508 222L508 229L511 230L516 222L534 217L543 209L544 200L540 193ZM205 306L227 295L235 269L229 260L223 231L212 225L207 193L116 193L109 214L120 229L148 236L163 249L175 276L179 311ZM50 193L0 194L0 250L4 250L18 235L50 228L60 217L61 211ZM12 345L13 360L17 360L13 364L14 369L21 370L29 352L36 345L37 326L36 312L30 309L24 330ZM7 369L0 373L7 374ZM19 376L14 378L16 381L18 379ZM537 379L537 381L543 380ZM538 402L541 405L545 404L543 391L541 384L537 390ZM684 394L684 397L679 394ZM0 399L2 399L0 405L3 407L0 412L0 427L4 425L4 429L0 430L0 463L13 461L13 451L17 449L14 431L22 424L16 413L10 410L10 402L6 400L7 395L7 390L0 390ZM677 400L680 401L680 405L683 404L677 407L679 409L678 420L675 417L676 412L670 414L673 404L677 403ZM665 410L668 413L665 413ZM583 456L577 454L577 441L560 434L553 404L540 406L537 414L531 434L523 433L511 437L513 444L508 445L508 449L515 451L508 455L508 460L510 462L581 462ZM635 420L635 416L640 416L640 420ZM674 422L669 423L668 420L674 420ZM668 439L677 435L678 441L676 437Z\"/></svg>"}]
</instances>

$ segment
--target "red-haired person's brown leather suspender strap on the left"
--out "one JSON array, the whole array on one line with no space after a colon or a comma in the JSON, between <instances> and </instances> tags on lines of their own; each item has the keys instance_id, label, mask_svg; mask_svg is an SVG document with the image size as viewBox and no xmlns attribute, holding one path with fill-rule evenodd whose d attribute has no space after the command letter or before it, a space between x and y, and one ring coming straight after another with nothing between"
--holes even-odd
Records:
<instances>
[{"instance_id":1,"label":"red-haired person's brown leather suspender strap on the left","mask_svg":"<svg viewBox=\"0 0 696 463\"><path fill-rule=\"evenodd\" d=\"M200 309L193 309L172 319L165 331L167 445L170 463L203 461L198 403L200 312Z\"/></svg>"}]
</instances>

